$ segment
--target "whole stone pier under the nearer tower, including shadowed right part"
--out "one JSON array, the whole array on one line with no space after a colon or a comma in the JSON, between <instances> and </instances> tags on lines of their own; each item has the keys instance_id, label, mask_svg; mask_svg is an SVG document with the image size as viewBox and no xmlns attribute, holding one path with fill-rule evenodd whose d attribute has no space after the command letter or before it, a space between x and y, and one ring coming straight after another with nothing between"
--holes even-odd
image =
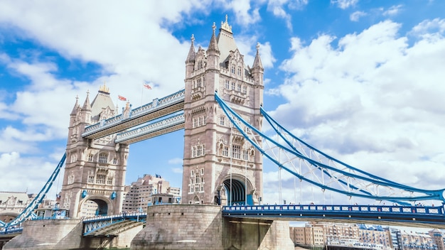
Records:
<instances>
[{"instance_id":1,"label":"whole stone pier under the nearer tower, including shadowed right part","mask_svg":"<svg viewBox=\"0 0 445 250\"><path fill-rule=\"evenodd\" d=\"M288 222L223 218L215 205L155 205L134 237L142 249L294 249Z\"/></svg>"}]
</instances>

